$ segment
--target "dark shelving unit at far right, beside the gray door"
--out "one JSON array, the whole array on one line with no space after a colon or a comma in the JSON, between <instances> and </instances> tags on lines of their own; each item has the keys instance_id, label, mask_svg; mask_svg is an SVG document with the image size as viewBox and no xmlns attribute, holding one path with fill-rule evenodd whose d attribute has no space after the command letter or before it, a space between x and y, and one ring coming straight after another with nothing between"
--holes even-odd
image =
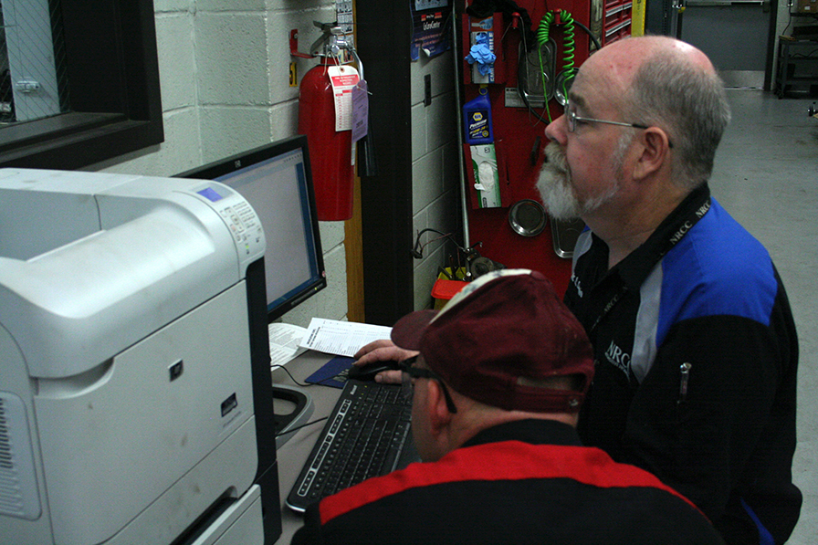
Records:
<instances>
[{"instance_id":1,"label":"dark shelving unit at far right, beside the gray door","mask_svg":"<svg viewBox=\"0 0 818 545\"><path fill-rule=\"evenodd\" d=\"M778 68L775 93L783 99L788 93L809 93L818 89L818 39L778 38Z\"/></svg>"}]
</instances>

